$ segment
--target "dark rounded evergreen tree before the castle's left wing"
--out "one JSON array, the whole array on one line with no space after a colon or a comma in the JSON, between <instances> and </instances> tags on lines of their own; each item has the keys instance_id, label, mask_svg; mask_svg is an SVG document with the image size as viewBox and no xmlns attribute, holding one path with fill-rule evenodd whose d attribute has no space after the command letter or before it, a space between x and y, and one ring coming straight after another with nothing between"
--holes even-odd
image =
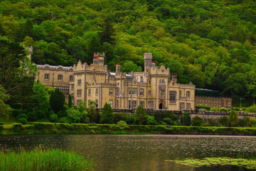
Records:
<instances>
[{"instance_id":1,"label":"dark rounded evergreen tree before the castle's left wing","mask_svg":"<svg viewBox=\"0 0 256 171\"><path fill-rule=\"evenodd\" d=\"M54 113L57 113L63 108L65 104L65 95L60 91L59 88L56 88L54 92L51 93L50 96L50 105L54 110Z\"/></svg>"}]
</instances>

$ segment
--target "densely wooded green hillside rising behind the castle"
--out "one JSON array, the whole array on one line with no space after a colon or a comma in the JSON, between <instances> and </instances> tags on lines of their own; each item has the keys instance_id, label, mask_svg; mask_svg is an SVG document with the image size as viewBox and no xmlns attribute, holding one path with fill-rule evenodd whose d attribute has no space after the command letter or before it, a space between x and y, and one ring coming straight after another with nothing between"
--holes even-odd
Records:
<instances>
[{"instance_id":1,"label":"densely wooded green hillside rising behind the castle","mask_svg":"<svg viewBox=\"0 0 256 171\"><path fill-rule=\"evenodd\" d=\"M119 62L140 71L151 52L180 83L251 100L255 7L250 0L10 0L0 3L0 38L33 46L37 64L91 63L94 52L105 52L112 70Z\"/></svg>"}]
</instances>

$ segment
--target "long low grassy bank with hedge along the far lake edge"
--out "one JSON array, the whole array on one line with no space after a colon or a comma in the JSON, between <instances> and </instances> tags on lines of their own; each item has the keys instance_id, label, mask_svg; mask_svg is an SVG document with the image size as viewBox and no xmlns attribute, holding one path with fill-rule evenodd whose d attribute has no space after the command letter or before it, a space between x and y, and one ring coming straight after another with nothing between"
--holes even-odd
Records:
<instances>
[{"instance_id":1,"label":"long low grassy bank with hedge along the far lake edge","mask_svg":"<svg viewBox=\"0 0 256 171\"><path fill-rule=\"evenodd\" d=\"M109 124L31 123L3 125L1 134L205 134L256 135L249 127L150 126Z\"/></svg>"}]
</instances>

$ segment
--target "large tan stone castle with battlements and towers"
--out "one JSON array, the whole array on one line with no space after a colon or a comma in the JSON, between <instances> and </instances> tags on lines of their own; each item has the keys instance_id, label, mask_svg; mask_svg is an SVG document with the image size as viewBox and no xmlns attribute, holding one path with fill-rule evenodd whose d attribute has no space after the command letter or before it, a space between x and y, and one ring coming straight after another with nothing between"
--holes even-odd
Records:
<instances>
[{"instance_id":1,"label":"large tan stone castle with battlements and towers","mask_svg":"<svg viewBox=\"0 0 256 171\"><path fill-rule=\"evenodd\" d=\"M151 53L144 53L144 72L128 74L120 71L119 63L115 72L110 72L104 57L104 53L94 54L91 65L80 60L73 67L37 65L35 80L60 88L66 98L70 93L75 105L82 100L88 105L93 100L97 108L103 108L106 102L116 109L138 105L167 110L195 108L195 85L177 83L177 74L171 76L169 68L156 67Z\"/></svg>"}]
</instances>

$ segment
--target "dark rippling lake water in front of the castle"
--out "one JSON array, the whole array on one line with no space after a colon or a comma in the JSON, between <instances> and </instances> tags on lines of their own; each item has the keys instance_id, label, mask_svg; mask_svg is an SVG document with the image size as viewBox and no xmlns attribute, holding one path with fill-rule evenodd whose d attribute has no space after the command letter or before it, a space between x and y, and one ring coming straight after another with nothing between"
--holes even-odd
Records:
<instances>
[{"instance_id":1,"label":"dark rippling lake water in front of the castle","mask_svg":"<svg viewBox=\"0 0 256 171\"><path fill-rule=\"evenodd\" d=\"M191 167L165 160L256 155L254 136L216 135L1 135L0 146L72 148L92 157L96 170L246 170L237 166ZM1 162L1 161L0 161Z\"/></svg>"}]
</instances>

